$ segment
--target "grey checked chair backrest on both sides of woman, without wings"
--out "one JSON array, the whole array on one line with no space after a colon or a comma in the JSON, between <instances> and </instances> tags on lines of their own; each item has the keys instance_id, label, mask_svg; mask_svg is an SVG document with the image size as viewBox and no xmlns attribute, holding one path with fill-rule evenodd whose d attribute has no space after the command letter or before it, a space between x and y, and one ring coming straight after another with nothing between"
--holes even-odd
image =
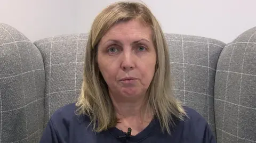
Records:
<instances>
[{"instance_id":1,"label":"grey checked chair backrest on both sides of woman, without wings","mask_svg":"<svg viewBox=\"0 0 256 143\"><path fill-rule=\"evenodd\" d=\"M214 79L225 46L218 40L166 34L170 48L174 95L201 113L215 132ZM87 35L62 35L35 41L45 65L45 119L59 107L75 102L81 91Z\"/></svg>"}]
</instances>

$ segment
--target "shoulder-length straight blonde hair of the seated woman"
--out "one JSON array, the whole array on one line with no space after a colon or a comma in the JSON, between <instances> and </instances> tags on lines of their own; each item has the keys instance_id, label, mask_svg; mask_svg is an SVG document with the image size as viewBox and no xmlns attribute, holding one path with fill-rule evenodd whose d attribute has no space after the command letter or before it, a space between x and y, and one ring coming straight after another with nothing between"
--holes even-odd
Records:
<instances>
[{"instance_id":1,"label":"shoulder-length straight blonde hair of the seated woman","mask_svg":"<svg viewBox=\"0 0 256 143\"><path fill-rule=\"evenodd\" d=\"M186 113L172 95L169 51L161 26L148 7L138 2L111 4L95 18L86 45L82 92L76 103L77 113L88 115L96 132L116 126L116 114L107 84L97 64L97 45L114 24L134 19L151 27L157 55L155 75L148 88L142 113L150 109L161 123L162 131L170 133L170 125L175 125L174 118L183 120Z\"/></svg>"}]
</instances>

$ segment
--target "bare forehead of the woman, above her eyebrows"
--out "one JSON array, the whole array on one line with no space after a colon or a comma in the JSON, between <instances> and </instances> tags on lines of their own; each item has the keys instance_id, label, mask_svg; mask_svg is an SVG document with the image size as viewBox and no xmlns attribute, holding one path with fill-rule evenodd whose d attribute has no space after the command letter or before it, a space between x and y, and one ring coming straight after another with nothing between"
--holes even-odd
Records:
<instances>
[{"instance_id":1,"label":"bare forehead of the woman, above her eyebrows","mask_svg":"<svg viewBox=\"0 0 256 143\"><path fill-rule=\"evenodd\" d=\"M125 22L116 23L111 27L106 34L102 37L101 41L111 40L138 40L141 38L151 41L152 30L146 24L139 20L130 20Z\"/></svg>"}]
</instances>

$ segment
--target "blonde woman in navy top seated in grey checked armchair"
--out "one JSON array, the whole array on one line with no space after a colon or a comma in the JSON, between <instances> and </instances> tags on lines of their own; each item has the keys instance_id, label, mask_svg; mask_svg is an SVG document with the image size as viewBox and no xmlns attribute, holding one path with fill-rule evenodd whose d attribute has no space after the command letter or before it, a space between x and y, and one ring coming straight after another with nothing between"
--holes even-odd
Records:
<instances>
[{"instance_id":1,"label":"blonde woman in navy top seated in grey checked armchair","mask_svg":"<svg viewBox=\"0 0 256 143\"><path fill-rule=\"evenodd\" d=\"M204 118L172 96L170 79L154 15L111 4L92 24L78 102L52 115L41 142L215 142Z\"/></svg>"}]
</instances>

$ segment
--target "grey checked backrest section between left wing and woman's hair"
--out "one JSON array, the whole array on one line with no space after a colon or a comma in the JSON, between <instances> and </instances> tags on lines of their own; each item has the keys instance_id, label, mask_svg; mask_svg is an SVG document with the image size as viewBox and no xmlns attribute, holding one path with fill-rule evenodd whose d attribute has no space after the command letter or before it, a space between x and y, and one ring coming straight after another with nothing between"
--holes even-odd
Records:
<instances>
[{"instance_id":1,"label":"grey checked backrest section between left wing and woman's hair","mask_svg":"<svg viewBox=\"0 0 256 143\"><path fill-rule=\"evenodd\" d=\"M81 91L86 34L35 41L45 66L44 124L60 107L74 103Z\"/></svg>"}]
</instances>

